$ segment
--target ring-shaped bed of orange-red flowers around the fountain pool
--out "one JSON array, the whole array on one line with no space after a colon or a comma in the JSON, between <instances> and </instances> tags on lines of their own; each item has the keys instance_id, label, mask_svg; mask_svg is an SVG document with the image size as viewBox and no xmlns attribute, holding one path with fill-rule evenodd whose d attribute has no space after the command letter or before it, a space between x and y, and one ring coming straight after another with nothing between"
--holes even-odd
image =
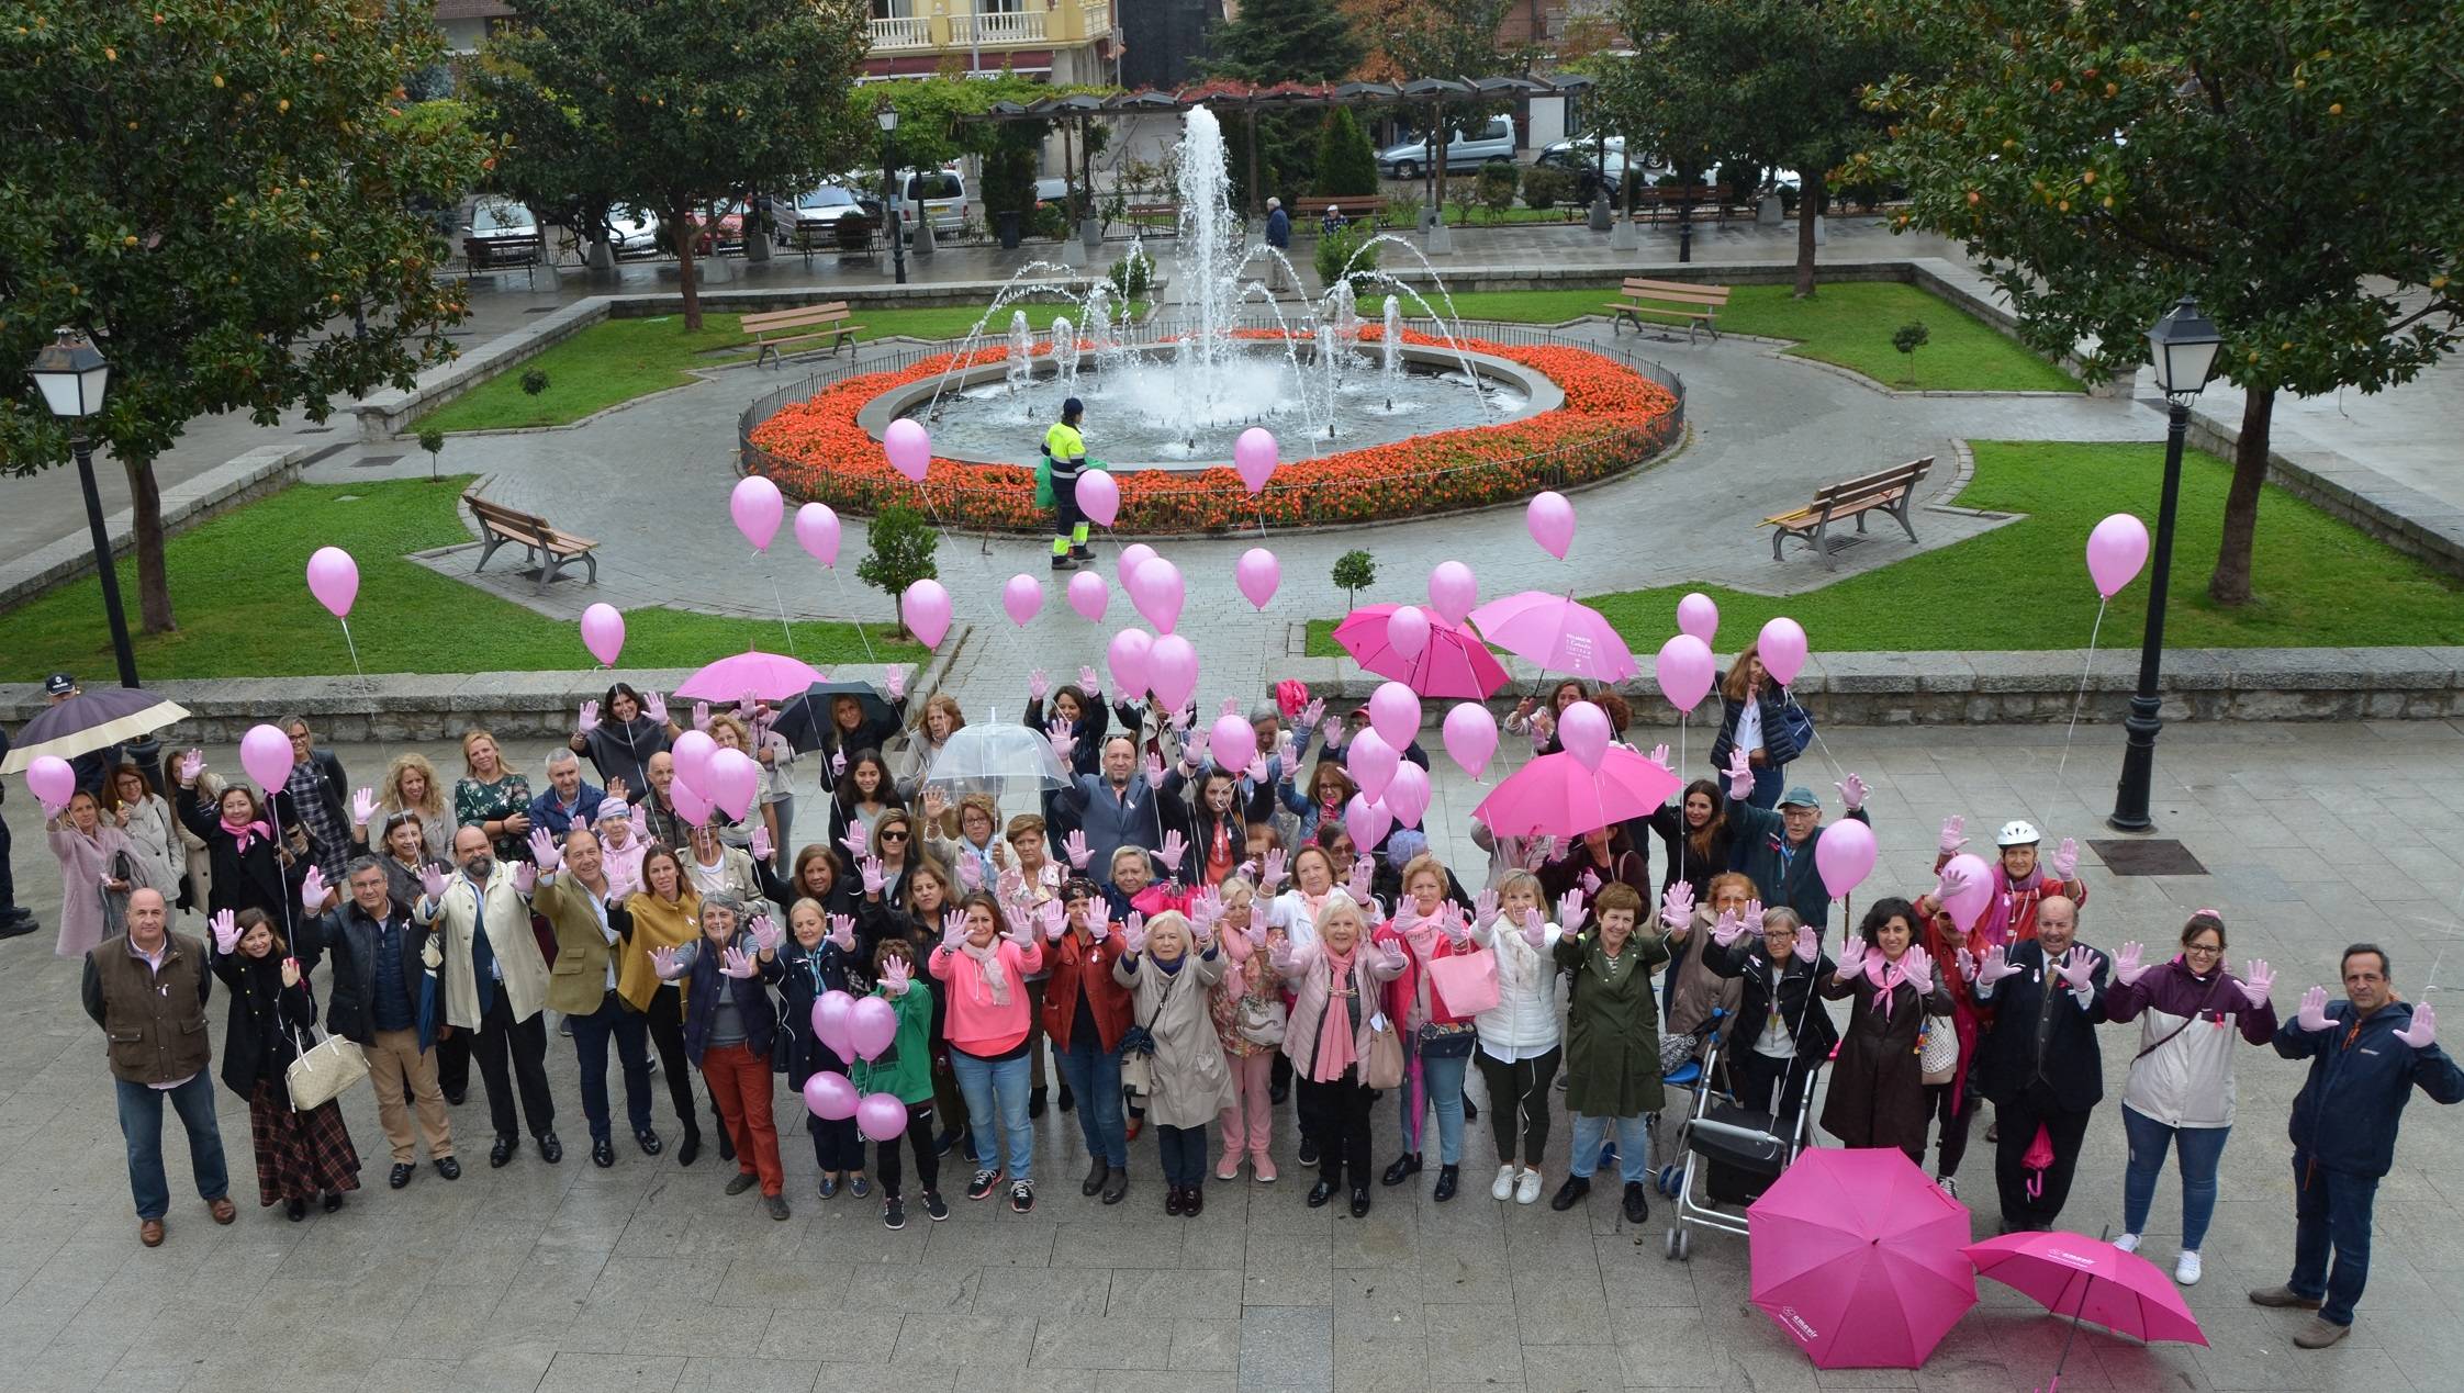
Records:
<instances>
[{"instance_id":1,"label":"ring-shaped bed of orange-red flowers around the fountain pool","mask_svg":"<svg viewBox=\"0 0 2464 1393\"><path fill-rule=\"evenodd\" d=\"M1274 337L1244 335L1244 337ZM1360 332L1377 342L1382 327ZM1404 342L1446 340L1404 330ZM1259 522L1328 527L1385 517L1417 517L1459 507L1486 507L1530 497L1545 487L1570 487L1634 468L1676 436L1683 423L1678 399L1631 367L1577 347L1518 347L1456 340L1471 352L1496 354L1547 374L1565 389L1565 406L1503 426L1444 431L1392 445L1338 450L1289 460L1266 490L1252 495L1232 465L1207 470L1124 470L1116 532L1230 532ZM875 441L855 423L867 401L954 367L1003 362L1008 349L939 354L897 372L870 372L833 381L821 394L784 406L747 438L747 468L781 490L870 514L887 505L917 505L944 527L998 527L1040 532L1050 512L1035 507L1035 470L1027 465L978 465L934 458L922 485L890 468ZM924 497L919 497L924 495Z\"/></svg>"}]
</instances>

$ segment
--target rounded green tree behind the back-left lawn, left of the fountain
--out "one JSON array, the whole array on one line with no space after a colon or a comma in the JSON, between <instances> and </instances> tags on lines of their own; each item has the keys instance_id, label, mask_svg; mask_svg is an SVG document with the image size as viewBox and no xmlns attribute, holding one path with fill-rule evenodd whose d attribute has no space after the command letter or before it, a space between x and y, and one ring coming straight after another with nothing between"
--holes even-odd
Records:
<instances>
[{"instance_id":1,"label":"rounded green tree behind the back-left lawn, left of the fountain","mask_svg":"<svg viewBox=\"0 0 2464 1393\"><path fill-rule=\"evenodd\" d=\"M685 330L702 219L754 192L801 192L872 150L848 91L870 44L860 0L513 0L473 86L515 170L547 194L658 214ZM540 165L557 165L540 170ZM527 197L527 194L525 194ZM756 236L747 229L747 236Z\"/></svg>"}]
</instances>

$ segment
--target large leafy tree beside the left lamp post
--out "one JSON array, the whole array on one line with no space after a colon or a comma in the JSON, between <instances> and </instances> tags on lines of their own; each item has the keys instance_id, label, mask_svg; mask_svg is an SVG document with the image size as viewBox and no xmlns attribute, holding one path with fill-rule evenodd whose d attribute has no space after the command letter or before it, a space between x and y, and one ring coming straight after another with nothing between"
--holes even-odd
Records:
<instances>
[{"instance_id":1,"label":"large leafy tree beside the left lamp post","mask_svg":"<svg viewBox=\"0 0 2464 1393\"><path fill-rule=\"evenodd\" d=\"M172 628L155 458L197 416L271 426L411 386L451 357L463 293L421 204L488 150L402 118L439 57L426 10L342 0L44 0L0 20L0 460L34 473L69 433L17 367L54 325L111 359L94 443L128 473L138 613ZM355 315L362 325L355 327Z\"/></svg>"}]
</instances>

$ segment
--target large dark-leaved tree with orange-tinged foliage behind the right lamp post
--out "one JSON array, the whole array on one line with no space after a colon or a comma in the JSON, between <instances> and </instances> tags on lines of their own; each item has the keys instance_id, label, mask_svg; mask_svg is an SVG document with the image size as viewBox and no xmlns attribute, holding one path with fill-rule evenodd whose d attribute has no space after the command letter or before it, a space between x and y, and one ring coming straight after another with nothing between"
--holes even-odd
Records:
<instances>
[{"instance_id":1,"label":"large dark-leaved tree with orange-tinged foliage behind the right lamp post","mask_svg":"<svg viewBox=\"0 0 2464 1393\"><path fill-rule=\"evenodd\" d=\"M1961 239L2025 342L2136 372L2195 295L2245 391L2208 593L2250 601L2279 391L2380 391L2464 320L2464 10L2395 0L1917 0L1932 81L1873 94L1910 226Z\"/></svg>"}]
</instances>

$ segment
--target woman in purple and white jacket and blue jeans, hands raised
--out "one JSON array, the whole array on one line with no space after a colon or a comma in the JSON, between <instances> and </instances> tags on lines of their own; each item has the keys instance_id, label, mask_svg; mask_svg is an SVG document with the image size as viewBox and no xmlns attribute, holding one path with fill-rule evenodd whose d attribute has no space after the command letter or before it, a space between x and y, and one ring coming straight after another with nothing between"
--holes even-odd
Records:
<instances>
[{"instance_id":1,"label":"woman in purple and white jacket and blue jeans, hands raised","mask_svg":"<svg viewBox=\"0 0 2464 1393\"><path fill-rule=\"evenodd\" d=\"M2225 972L2225 920L2213 908L2190 916L2181 930L2181 955L2141 967L2136 943L2114 957L2114 984L2104 992L2104 1016L2139 1016L2139 1056L2122 1088L2122 1127L2131 1162L2122 1179L2122 1238L2134 1253L2156 1199L2156 1176L2168 1147L2181 1149L2181 1258L2173 1280L2198 1282L2198 1245L2215 1213L2215 1164L2232 1132L2232 1036L2267 1044L2277 1034L2277 1007L2267 999L2274 970L2250 960L2245 977Z\"/></svg>"}]
</instances>

